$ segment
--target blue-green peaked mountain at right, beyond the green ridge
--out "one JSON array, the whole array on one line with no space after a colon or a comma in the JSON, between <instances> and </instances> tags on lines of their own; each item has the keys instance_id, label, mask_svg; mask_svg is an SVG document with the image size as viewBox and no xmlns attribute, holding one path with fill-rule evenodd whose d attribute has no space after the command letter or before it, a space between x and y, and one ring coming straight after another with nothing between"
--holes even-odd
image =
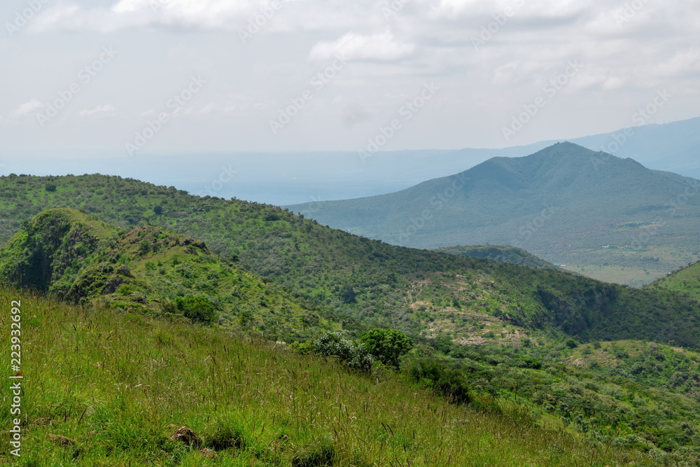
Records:
<instances>
[{"instance_id":1,"label":"blue-green peaked mountain at right, beyond the green ridge","mask_svg":"<svg viewBox=\"0 0 700 467\"><path fill-rule=\"evenodd\" d=\"M700 258L699 189L695 179L561 143L388 195L288 208L392 244L509 244L582 269L636 268L642 280L652 271L651 281Z\"/></svg>"}]
</instances>

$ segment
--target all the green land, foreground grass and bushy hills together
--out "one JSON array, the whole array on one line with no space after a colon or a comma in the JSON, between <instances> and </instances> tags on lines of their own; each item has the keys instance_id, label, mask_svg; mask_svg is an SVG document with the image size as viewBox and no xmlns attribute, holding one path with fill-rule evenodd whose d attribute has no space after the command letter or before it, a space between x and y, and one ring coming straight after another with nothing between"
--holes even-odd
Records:
<instances>
[{"instance_id":1,"label":"all the green land, foreground grass and bushy hills together","mask_svg":"<svg viewBox=\"0 0 700 467\"><path fill-rule=\"evenodd\" d=\"M0 279L72 304L22 294L25 433L42 461L700 462L690 296L392 246L114 177L3 181L36 189L0 198L16 216L4 219L20 219ZM94 214L22 218L71 197ZM6 305L18 295L1 293Z\"/></svg>"}]
</instances>

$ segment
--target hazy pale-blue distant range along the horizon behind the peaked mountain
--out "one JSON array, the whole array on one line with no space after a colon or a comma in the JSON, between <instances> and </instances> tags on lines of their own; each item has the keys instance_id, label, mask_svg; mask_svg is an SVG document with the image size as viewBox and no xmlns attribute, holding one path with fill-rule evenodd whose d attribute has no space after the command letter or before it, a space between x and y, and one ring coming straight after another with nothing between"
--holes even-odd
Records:
<instances>
[{"instance_id":1,"label":"hazy pale-blue distant range along the horizon behind the peaked mountain","mask_svg":"<svg viewBox=\"0 0 700 467\"><path fill-rule=\"evenodd\" d=\"M498 149L379 151L370 158L360 158L357 151L13 157L5 158L0 167L2 174L109 173L176 186L193 195L298 204L392 193L462 172L490 158L529 155L557 141L563 139ZM700 179L700 118L634 126L568 141L592 151L632 158L651 169Z\"/></svg>"}]
</instances>

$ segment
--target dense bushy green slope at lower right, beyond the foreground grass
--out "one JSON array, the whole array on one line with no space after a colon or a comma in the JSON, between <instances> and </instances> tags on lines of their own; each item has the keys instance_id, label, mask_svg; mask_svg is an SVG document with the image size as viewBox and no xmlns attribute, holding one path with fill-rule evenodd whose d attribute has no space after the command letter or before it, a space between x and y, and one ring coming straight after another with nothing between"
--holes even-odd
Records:
<instances>
[{"instance_id":1,"label":"dense bushy green slope at lower right, beyond the foreground grass","mask_svg":"<svg viewBox=\"0 0 700 467\"><path fill-rule=\"evenodd\" d=\"M653 342L433 341L447 356L408 361L415 381L484 407L528 407L544 426L645 452L656 465L700 463L700 354Z\"/></svg>"}]
</instances>

